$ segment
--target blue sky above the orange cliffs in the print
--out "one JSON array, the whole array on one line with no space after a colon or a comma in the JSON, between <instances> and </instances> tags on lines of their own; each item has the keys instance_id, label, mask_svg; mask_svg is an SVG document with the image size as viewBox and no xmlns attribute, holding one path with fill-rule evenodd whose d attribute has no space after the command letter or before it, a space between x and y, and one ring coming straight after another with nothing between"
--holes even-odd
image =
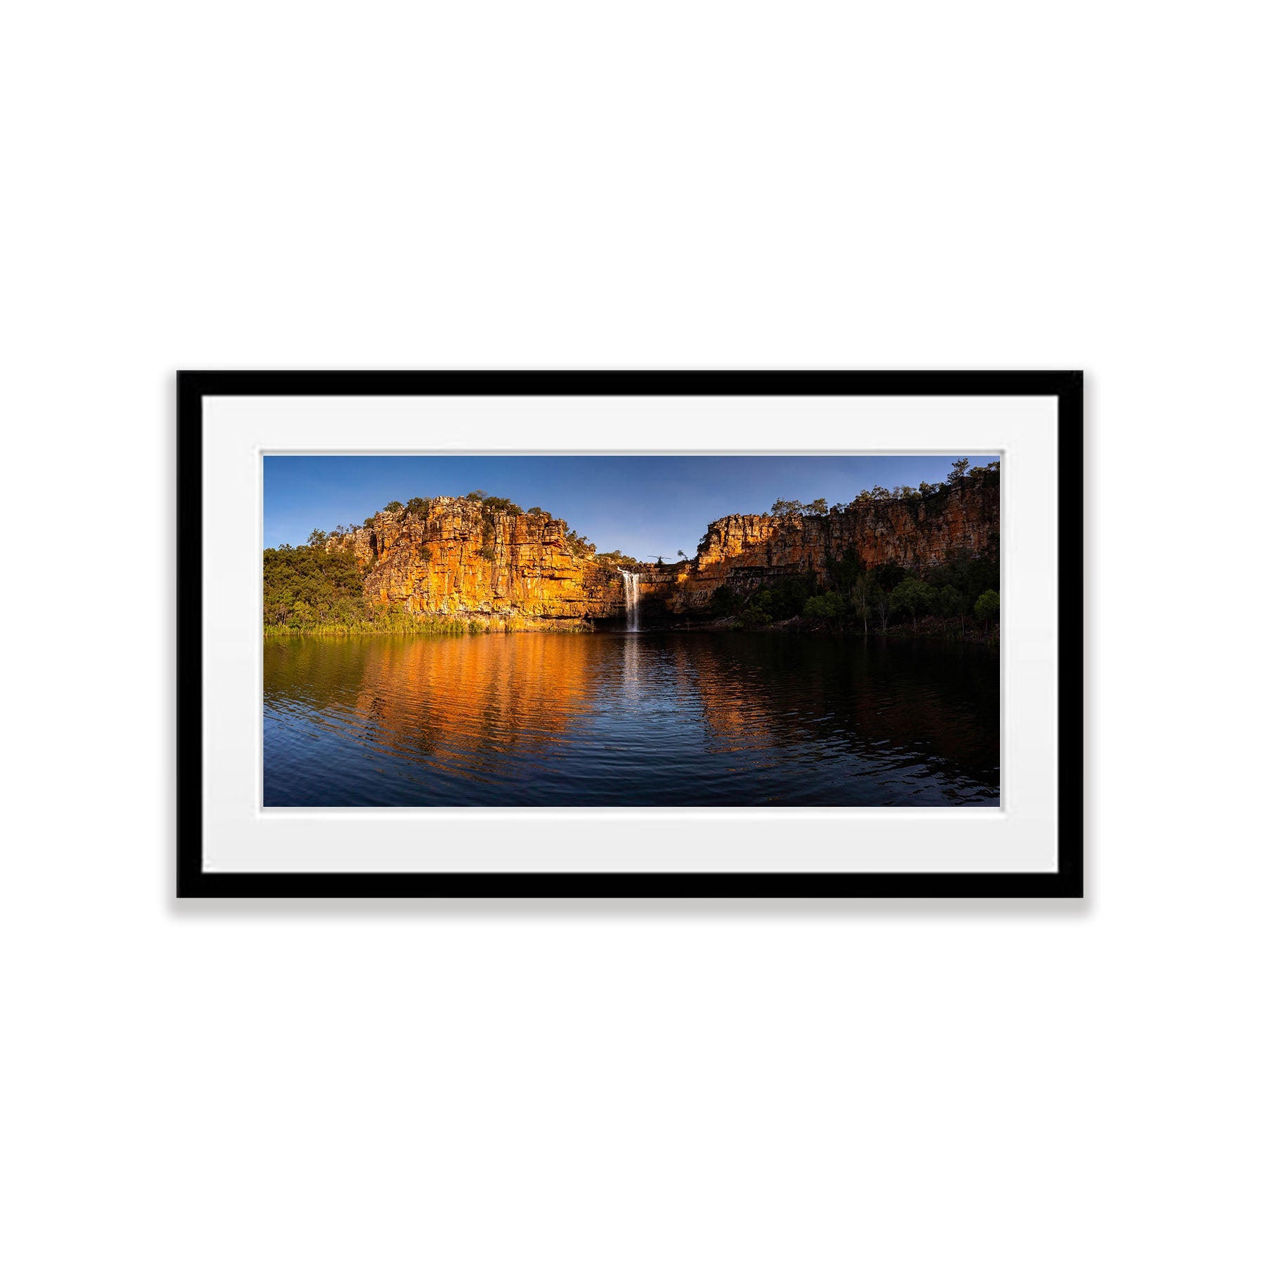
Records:
<instances>
[{"instance_id":1,"label":"blue sky above the orange cliffs in the print","mask_svg":"<svg viewBox=\"0 0 1264 1264\"><path fill-rule=\"evenodd\" d=\"M992 458L973 456L982 465ZM830 504L880 484L942 482L954 456L265 456L263 542L359 525L391 501L480 488L538 504L600 551L693 555L707 525L777 498Z\"/></svg>"}]
</instances>

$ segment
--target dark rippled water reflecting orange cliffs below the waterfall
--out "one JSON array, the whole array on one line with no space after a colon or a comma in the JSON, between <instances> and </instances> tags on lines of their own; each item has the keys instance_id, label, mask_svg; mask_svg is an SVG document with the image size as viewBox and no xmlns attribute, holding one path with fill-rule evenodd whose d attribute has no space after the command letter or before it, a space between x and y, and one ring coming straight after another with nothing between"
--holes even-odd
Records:
<instances>
[{"instance_id":1,"label":"dark rippled water reflecting orange cliffs below the waterfall","mask_svg":"<svg viewBox=\"0 0 1264 1264\"><path fill-rule=\"evenodd\" d=\"M264 804L996 804L997 664L741 632L268 641Z\"/></svg>"}]
</instances>

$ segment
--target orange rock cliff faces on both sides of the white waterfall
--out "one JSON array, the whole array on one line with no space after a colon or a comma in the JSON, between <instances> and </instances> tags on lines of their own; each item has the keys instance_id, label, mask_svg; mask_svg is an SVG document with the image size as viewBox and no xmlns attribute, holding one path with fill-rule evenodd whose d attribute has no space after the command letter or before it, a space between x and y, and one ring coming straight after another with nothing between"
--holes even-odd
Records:
<instances>
[{"instance_id":1,"label":"orange rock cliff faces on both sides of the white waterfall","mask_svg":"<svg viewBox=\"0 0 1264 1264\"><path fill-rule=\"evenodd\" d=\"M571 544L545 513L502 513L440 497L426 513L386 511L326 547L351 547L368 600L418 616L502 627L568 627L626 619L617 566ZM925 501L856 502L822 516L731 514L713 522L694 561L637 565L642 622L703 611L720 585L748 592L786 575L828 584L851 550L866 566L913 570L954 555L996 556L1000 487L972 480Z\"/></svg>"}]
</instances>

